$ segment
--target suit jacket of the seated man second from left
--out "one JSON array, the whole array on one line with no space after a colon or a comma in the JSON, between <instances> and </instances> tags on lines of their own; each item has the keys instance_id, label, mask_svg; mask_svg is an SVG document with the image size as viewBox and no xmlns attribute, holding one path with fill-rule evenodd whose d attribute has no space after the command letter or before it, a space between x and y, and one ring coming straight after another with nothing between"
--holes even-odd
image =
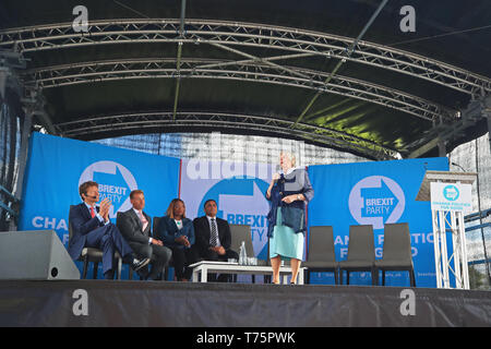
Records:
<instances>
[{"instance_id":1,"label":"suit jacket of the seated man second from left","mask_svg":"<svg viewBox=\"0 0 491 349\"><path fill-rule=\"evenodd\" d=\"M152 218L144 212L143 216L145 216L148 221L145 230L143 231L143 225L140 220L140 217L133 210L133 208L128 209L127 212L119 212L116 218L116 226L119 231L123 236L127 242L135 242L135 243L144 243L148 244L149 238L152 238Z\"/></svg>"}]
</instances>

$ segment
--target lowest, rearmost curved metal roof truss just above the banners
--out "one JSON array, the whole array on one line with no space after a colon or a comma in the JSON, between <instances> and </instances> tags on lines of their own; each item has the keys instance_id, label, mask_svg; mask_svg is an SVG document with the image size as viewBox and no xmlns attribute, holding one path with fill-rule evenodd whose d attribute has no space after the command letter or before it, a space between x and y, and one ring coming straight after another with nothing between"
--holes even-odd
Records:
<instances>
[{"instance_id":1,"label":"lowest, rearmost curved metal roof truss just above the banners","mask_svg":"<svg viewBox=\"0 0 491 349\"><path fill-rule=\"evenodd\" d=\"M173 132L173 130L183 128L252 130L278 136L297 136L304 141L340 147L379 160L399 158L398 153L394 149L344 132L306 123L299 123L297 129L290 130L289 128L292 124L294 121L285 119L217 112L177 112L173 120L173 111L163 111L87 117L76 121L58 123L55 127L60 134L68 137L157 128L163 128L166 132Z\"/></svg>"}]
</instances>

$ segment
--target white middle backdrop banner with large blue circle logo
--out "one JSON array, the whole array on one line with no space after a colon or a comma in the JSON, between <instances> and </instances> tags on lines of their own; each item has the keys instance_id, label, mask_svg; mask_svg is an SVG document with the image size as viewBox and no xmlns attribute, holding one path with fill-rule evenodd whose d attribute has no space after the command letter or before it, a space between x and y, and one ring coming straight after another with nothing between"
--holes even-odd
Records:
<instances>
[{"instance_id":1,"label":"white middle backdrop banner with large blue circle logo","mask_svg":"<svg viewBox=\"0 0 491 349\"><path fill-rule=\"evenodd\" d=\"M251 226L254 255L267 260L267 213L264 197L272 166L231 161L182 160L180 197L191 219L204 216L204 203L217 203L217 217ZM236 251L239 252L239 251Z\"/></svg>"}]
</instances>

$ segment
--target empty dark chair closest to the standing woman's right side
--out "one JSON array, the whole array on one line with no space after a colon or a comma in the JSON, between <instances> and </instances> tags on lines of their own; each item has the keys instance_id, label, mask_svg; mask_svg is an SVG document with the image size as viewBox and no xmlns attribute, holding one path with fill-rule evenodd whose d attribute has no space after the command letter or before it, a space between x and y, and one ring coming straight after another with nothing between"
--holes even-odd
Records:
<instances>
[{"instance_id":1,"label":"empty dark chair closest to the standing woman's right side","mask_svg":"<svg viewBox=\"0 0 491 349\"><path fill-rule=\"evenodd\" d=\"M315 226L310 227L309 234L309 254L306 262L306 284L310 284L311 272L331 272L334 273L334 282L338 285L338 263L334 252L333 227Z\"/></svg>"}]
</instances>

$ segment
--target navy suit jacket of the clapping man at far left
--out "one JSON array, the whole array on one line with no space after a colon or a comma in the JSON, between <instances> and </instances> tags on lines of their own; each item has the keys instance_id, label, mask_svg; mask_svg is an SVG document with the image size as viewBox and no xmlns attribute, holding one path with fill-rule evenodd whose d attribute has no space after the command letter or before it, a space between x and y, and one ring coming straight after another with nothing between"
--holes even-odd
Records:
<instances>
[{"instance_id":1,"label":"navy suit jacket of the clapping man at far left","mask_svg":"<svg viewBox=\"0 0 491 349\"><path fill-rule=\"evenodd\" d=\"M99 207L96 207L96 210L99 212ZM104 227L104 222L97 217L92 218L85 203L81 203L70 207L69 225L72 229L72 237L70 238L68 252L73 260L77 260L85 246L87 233Z\"/></svg>"}]
</instances>

